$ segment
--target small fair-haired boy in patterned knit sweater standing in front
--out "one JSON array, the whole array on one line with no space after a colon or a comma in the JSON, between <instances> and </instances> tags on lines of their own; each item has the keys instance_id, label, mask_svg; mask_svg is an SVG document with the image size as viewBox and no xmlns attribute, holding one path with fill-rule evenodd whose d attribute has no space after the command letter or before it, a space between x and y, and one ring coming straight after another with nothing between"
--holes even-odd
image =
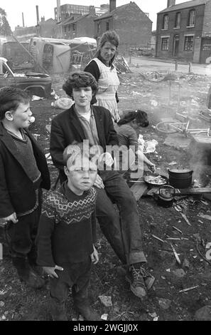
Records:
<instances>
[{"instance_id":1,"label":"small fair-haired boy in patterned knit sweater standing in front","mask_svg":"<svg viewBox=\"0 0 211 335\"><path fill-rule=\"evenodd\" d=\"M91 264L99 260L96 240L96 191L92 187L97 165L82 143L68 145L63 153L67 181L50 191L43 204L38 228L38 264L50 277L51 315L67 321L65 301L72 287L77 311L86 320L98 320L88 300Z\"/></svg>"}]
</instances>

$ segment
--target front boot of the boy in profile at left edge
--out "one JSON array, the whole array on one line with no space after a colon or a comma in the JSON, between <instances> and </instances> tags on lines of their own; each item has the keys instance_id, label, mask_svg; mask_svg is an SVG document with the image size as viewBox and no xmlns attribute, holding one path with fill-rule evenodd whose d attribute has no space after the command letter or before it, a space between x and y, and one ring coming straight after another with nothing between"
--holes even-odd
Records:
<instances>
[{"instance_id":1,"label":"front boot of the boy in profile at left edge","mask_svg":"<svg viewBox=\"0 0 211 335\"><path fill-rule=\"evenodd\" d=\"M39 277L38 274L31 269L25 258L13 257L12 262L13 266L16 267L21 281L25 282L29 287L40 289L45 285L45 280Z\"/></svg>"}]
</instances>

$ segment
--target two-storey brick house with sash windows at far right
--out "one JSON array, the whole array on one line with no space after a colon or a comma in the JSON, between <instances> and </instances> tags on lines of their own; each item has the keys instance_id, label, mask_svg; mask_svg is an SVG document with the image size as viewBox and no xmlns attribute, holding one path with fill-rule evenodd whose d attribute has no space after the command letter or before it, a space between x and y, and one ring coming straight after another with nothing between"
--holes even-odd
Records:
<instances>
[{"instance_id":1,"label":"two-storey brick house with sash windows at far right","mask_svg":"<svg viewBox=\"0 0 211 335\"><path fill-rule=\"evenodd\" d=\"M211 0L167 1L157 15L156 56L210 63Z\"/></svg>"}]
</instances>

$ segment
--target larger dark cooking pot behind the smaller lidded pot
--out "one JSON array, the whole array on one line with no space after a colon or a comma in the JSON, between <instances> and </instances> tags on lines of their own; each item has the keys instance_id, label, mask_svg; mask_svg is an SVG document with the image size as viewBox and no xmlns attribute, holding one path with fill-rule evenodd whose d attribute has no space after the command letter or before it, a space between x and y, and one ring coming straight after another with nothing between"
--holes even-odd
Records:
<instances>
[{"instance_id":1,"label":"larger dark cooking pot behind the smaller lidded pot","mask_svg":"<svg viewBox=\"0 0 211 335\"><path fill-rule=\"evenodd\" d=\"M188 188L192 183L193 170L168 169L169 185L175 188Z\"/></svg>"}]
</instances>

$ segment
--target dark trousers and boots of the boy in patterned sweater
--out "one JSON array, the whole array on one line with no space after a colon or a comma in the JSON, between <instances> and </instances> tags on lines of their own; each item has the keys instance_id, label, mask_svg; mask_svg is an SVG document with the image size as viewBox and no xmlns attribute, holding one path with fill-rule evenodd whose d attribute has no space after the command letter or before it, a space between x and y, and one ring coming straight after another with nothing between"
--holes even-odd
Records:
<instances>
[{"instance_id":1,"label":"dark trousers and boots of the boy in patterned sweater","mask_svg":"<svg viewBox=\"0 0 211 335\"><path fill-rule=\"evenodd\" d=\"M99 320L99 315L92 311L88 298L88 286L91 274L91 259L80 263L57 264L63 271L56 271L58 278L50 278L50 309L53 320L67 321L65 302L72 287L75 309L90 321Z\"/></svg>"}]
</instances>

